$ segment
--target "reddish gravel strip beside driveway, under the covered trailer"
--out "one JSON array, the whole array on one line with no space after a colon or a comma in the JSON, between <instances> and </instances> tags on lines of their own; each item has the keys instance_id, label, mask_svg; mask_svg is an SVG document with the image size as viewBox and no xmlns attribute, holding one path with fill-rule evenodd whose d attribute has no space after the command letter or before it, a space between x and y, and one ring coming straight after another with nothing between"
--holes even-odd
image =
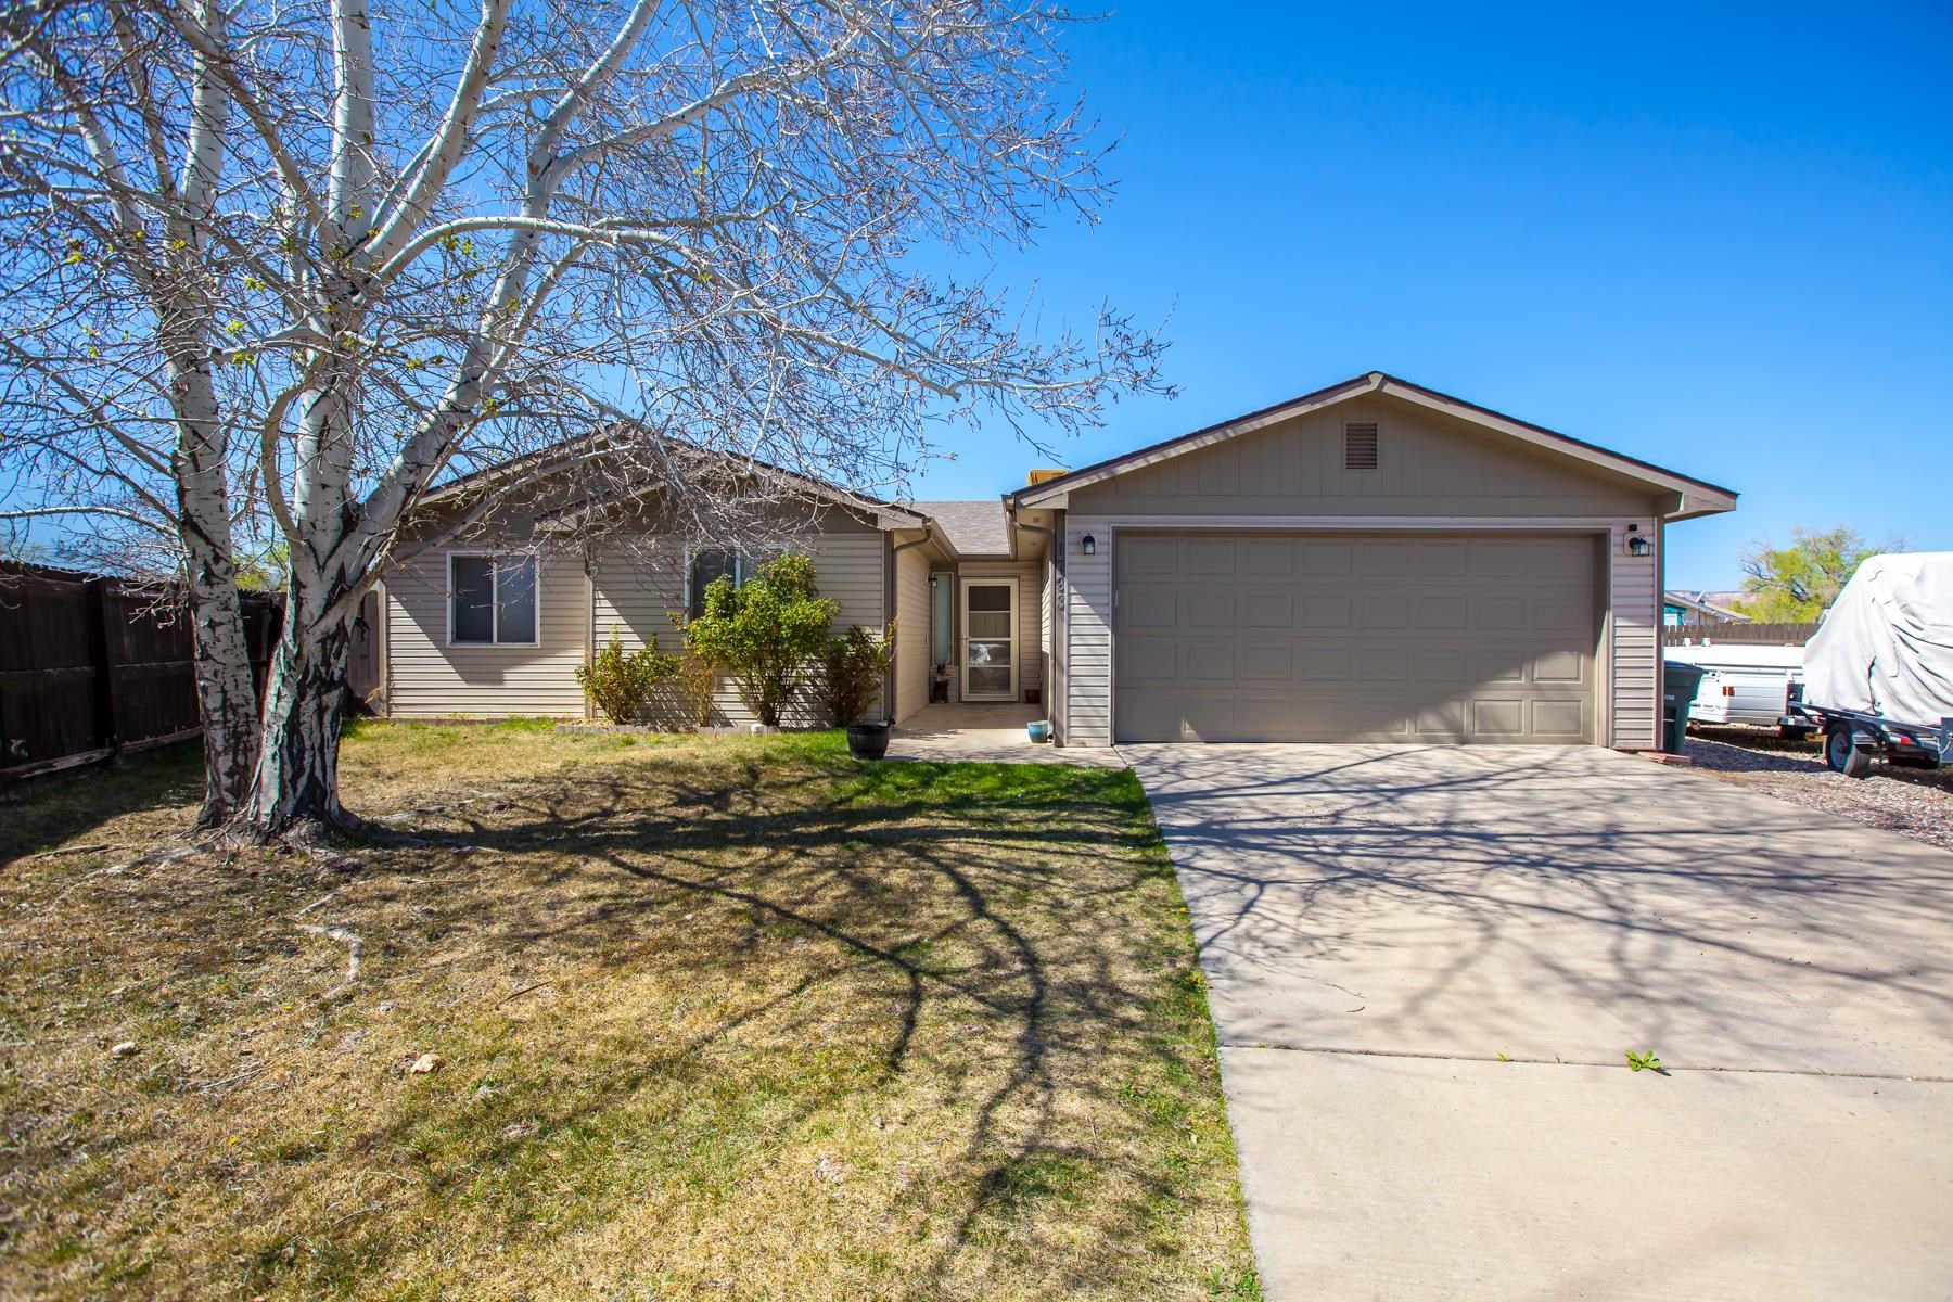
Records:
<instances>
[{"instance_id":1,"label":"reddish gravel strip beside driveway, under the covered trailer","mask_svg":"<svg viewBox=\"0 0 1953 1302\"><path fill-rule=\"evenodd\" d=\"M1775 728L1689 728L1695 773L1779 800L1953 849L1953 769L1881 763L1859 781L1824 767L1818 742L1785 742Z\"/></svg>"}]
</instances>

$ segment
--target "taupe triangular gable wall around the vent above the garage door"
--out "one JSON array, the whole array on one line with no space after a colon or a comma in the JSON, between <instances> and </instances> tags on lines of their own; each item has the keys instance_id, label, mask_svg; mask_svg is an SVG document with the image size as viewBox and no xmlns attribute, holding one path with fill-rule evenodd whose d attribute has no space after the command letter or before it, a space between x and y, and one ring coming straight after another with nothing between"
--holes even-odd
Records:
<instances>
[{"instance_id":1,"label":"taupe triangular gable wall around the vent above the garage door","mask_svg":"<svg viewBox=\"0 0 1953 1302\"><path fill-rule=\"evenodd\" d=\"M1344 468L1344 424L1375 422L1375 470ZM1074 513L1557 515L1644 511L1646 488L1389 396L1342 402L1078 488Z\"/></svg>"}]
</instances>

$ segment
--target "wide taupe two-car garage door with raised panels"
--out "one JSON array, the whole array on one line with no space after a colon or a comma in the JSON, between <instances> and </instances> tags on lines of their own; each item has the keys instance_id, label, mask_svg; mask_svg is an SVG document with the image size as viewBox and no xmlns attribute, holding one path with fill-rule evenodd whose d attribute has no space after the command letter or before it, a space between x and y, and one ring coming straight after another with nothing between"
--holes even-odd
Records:
<instances>
[{"instance_id":1,"label":"wide taupe two-car garage door with raised panels","mask_svg":"<svg viewBox=\"0 0 1953 1302\"><path fill-rule=\"evenodd\" d=\"M1594 740L1598 543L1121 533L1121 742Z\"/></svg>"}]
</instances>

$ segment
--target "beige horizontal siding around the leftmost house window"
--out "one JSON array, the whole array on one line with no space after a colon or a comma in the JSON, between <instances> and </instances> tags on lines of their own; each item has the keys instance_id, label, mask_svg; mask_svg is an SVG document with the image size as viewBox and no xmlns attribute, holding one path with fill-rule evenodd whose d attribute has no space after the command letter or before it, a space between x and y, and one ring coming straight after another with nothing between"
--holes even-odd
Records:
<instances>
[{"instance_id":1,"label":"beige horizontal siding around the leftmost house window","mask_svg":"<svg viewBox=\"0 0 1953 1302\"><path fill-rule=\"evenodd\" d=\"M482 547L463 547L482 552ZM543 714L580 718L588 597L574 556L543 552L537 564L539 646L447 644L447 552L387 574L387 705L400 718Z\"/></svg>"}]
</instances>

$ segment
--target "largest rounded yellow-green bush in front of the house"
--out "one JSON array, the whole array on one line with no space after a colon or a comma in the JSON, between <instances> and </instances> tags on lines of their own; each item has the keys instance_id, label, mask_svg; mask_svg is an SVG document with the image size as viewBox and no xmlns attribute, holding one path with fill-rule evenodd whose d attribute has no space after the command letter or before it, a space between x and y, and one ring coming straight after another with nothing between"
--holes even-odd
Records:
<instances>
[{"instance_id":1,"label":"largest rounded yellow-green bush in front of the house","mask_svg":"<svg viewBox=\"0 0 1953 1302\"><path fill-rule=\"evenodd\" d=\"M686 625L691 646L725 668L738 699L768 726L807 681L809 662L828 644L838 601L814 586L809 556L768 560L744 584L719 576L705 613Z\"/></svg>"}]
</instances>

